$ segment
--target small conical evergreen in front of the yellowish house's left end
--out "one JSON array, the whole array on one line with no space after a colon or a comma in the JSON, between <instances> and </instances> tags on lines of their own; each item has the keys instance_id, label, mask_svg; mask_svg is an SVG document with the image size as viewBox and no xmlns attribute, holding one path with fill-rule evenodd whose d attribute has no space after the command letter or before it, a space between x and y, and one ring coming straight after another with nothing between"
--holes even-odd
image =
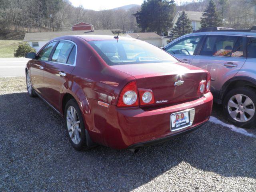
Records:
<instances>
[{"instance_id":1,"label":"small conical evergreen in front of the yellowish house's left end","mask_svg":"<svg viewBox=\"0 0 256 192\"><path fill-rule=\"evenodd\" d=\"M188 18L188 15L182 11L182 14L179 16L175 27L173 29L174 38L178 38L182 35L192 32L191 21Z\"/></svg>"}]
</instances>

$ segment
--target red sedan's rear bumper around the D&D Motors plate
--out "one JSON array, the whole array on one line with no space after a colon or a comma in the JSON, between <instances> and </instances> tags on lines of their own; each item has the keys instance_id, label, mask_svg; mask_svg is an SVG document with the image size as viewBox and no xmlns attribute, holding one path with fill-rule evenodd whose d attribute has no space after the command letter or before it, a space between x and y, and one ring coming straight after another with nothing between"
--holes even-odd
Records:
<instances>
[{"instance_id":1,"label":"red sedan's rear bumper around the D&D Motors plate","mask_svg":"<svg viewBox=\"0 0 256 192\"><path fill-rule=\"evenodd\" d=\"M173 106L153 109L139 107L118 108L114 105L100 106L98 101L88 99L90 109L84 113L88 133L93 142L115 149L163 142L200 127L210 118L212 94ZM170 115L194 108L195 117L191 126L171 131Z\"/></svg>"}]
</instances>

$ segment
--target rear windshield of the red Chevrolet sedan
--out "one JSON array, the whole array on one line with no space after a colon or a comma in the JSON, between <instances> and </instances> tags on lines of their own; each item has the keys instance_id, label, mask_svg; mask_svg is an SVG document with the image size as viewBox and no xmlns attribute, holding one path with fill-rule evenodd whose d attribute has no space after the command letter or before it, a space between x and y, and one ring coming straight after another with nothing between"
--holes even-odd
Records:
<instances>
[{"instance_id":1,"label":"rear windshield of the red Chevrolet sedan","mask_svg":"<svg viewBox=\"0 0 256 192\"><path fill-rule=\"evenodd\" d=\"M164 50L134 40L99 40L88 42L108 65L177 62Z\"/></svg>"}]
</instances>

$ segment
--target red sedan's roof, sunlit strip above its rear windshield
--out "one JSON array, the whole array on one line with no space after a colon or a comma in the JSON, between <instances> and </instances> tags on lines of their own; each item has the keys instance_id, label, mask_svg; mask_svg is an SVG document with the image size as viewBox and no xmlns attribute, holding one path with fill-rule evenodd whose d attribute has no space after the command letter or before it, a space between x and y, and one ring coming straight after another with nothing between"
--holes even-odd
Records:
<instances>
[{"instance_id":1,"label":"red sedan's roof, sunlit strip above its rear windshield","mask_svg":"<svg viewBox=\"0 0 256 192\"><path fill-rule=\"evenodd\" d=\"M76 37L80 37L86 41L98 41L98 40L116 40L114 36L112 35L74 35ZM134 40L134 41L140 41L138 39L130 38L130 37L124 37L124 36L118 36L118 40Z\"/></svg>"}]
</instances>

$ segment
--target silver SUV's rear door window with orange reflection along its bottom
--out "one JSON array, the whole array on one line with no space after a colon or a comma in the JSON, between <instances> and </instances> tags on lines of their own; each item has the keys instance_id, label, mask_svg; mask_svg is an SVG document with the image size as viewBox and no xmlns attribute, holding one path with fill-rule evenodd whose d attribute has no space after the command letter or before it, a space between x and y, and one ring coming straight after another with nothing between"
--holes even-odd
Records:
<instances>
[{"instance_id":1,"label":"silver SUV's rear door window with orange reflection along its bottom","mask_svg":"<svg viewBox=\"0 0 256 192\"><path fill-rule=\"evenodd\" d=\"M243 37L240 36L208 36L200 55L244 57Z\"/></svg>"}]
</instances>

